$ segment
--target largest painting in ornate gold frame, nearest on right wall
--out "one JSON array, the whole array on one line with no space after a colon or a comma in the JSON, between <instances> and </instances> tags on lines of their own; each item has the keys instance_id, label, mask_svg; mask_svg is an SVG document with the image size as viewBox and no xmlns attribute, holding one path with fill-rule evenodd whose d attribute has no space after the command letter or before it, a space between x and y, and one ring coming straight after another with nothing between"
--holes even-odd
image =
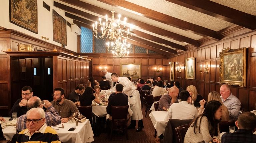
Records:
<instances>
[{"instance_id":1,"label":"largest painting in ornate gold frame, nearest on right wall","mask_svg":"<svg viewBox=\"0 0 256 143\"><path fill-rule=\"evenodd\" d=\"M220 84L246 87L246 47L220 52Z\"/></svg>"}]
</instances>

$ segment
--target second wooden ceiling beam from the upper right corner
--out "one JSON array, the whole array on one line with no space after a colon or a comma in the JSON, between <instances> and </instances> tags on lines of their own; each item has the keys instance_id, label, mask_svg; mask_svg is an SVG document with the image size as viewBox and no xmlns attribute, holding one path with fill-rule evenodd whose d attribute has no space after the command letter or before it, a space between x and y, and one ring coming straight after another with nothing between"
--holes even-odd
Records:
<instances>
[{"instance_id":1,"label":"second wooden ceiling beam from the upper right corner","mask_svg":"<svg viewBox=\"0 0 256 143\"><path fill-rule=\"evenodd\" d=\"M97 0L109 5L112 5L112 0ZM213 40L220 40L221 37L217 35L217 32L136 4L133 4L131 2L125 1L125 0L115 0L114 6L118 7L120 9L126 10L132 10L134 12L142 14L144 17L188 31L192 32L194 34L204 36Z\"/></svg>"}]
</instances>

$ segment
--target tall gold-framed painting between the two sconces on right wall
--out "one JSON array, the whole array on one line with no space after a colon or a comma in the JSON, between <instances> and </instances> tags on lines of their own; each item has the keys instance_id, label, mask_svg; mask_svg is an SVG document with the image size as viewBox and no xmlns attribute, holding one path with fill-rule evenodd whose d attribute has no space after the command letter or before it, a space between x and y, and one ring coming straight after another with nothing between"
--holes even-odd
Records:
<instances>
[{"instance_id":1,"label":"tall gold-framed painting between the two sconces on right wall","mask_svg":"<svg viewBox=\"0 0 256 143\"><path fill-rule=\"evenodd\" d=\"M186 58L186 78L195 79L195 58Z\"/></svg>"}]
</instances>

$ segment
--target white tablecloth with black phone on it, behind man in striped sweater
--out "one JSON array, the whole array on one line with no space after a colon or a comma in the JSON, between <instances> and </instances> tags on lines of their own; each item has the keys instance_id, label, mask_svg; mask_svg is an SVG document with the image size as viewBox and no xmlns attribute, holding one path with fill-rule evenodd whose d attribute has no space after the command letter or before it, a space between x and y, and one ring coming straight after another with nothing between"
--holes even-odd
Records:
<instances>
[{"instance_id":1,"label":"white tablecloth with black phone on it, behind man in striped sweater","mask_svg":"<svg viewBox=\"0 0 256 143\"><path fill-rule=\"evenodd\" d=\"M9 118L5 118L6 121L8 121ZM64 128L57 128L52 127L53 129L56 129L59 139L63 141L63 143L87 143L87 142L93 142L93 131L90 124L90 121L86 119L85 122L78 123L78 126L76 126L76 123L63 123ZM61 127L61 124L57 125L58 127ZM15 126L6 126L3 128L3 133L7 140L12 140L13 135L16 133ZM68 131L71 127L75 127L76 129L74 131Z\"/></svg>"}]
</instances>

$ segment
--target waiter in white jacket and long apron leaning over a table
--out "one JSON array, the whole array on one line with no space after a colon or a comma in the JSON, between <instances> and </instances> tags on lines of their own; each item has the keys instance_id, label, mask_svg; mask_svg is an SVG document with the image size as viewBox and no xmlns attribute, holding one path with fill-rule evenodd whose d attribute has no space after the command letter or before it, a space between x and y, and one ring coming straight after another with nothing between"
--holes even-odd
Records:
<instances>
[{"instance_id":1,"label":"waiter in white jacket and long apron leaning over a table","mask_svg":"<svg viewBox=\"0 0 256 143\"><path fill-rule=\"evenodd\" d=\"M141 103L140 103L140 93L136 89L136 87L132 84L132 82L127 77L119 77L116 73L111 74L111 79L113 82L117 82L122 84L123 87L123 93L125 93L128 96L128 100L130 103L130 108L133 111L133 114L131 116L131 124L127 127L127 129L135 129L136 126L136 120L138 121L138 128L137 132L141 131L143 126L143 115L141 111ZM111 88L109 91L115 91L116 86ZM106 95L111 94L109 91L107 91L102 97L105 97Z\"/></svg>"}]
</instances>

